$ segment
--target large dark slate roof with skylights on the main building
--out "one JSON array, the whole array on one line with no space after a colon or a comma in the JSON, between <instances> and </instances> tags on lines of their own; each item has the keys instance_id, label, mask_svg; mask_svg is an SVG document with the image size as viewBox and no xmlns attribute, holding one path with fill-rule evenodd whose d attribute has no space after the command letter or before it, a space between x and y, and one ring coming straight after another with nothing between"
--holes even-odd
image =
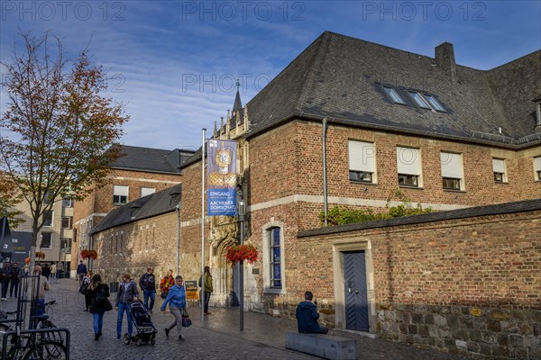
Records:
<instances>
[{"instance_id":1,"label":"large dark slate roof with skylights on the main building","mask_svg":"<svg viewBox=\"0 0 541 360\"><path fill-rule=\"evenodd\" d=\"M327 117L510 145L541 139L519 140L536 131L541 50L488 71L456 65L456 73L454 83L435 58L326 31L247 104L254 125L247 137L293 117ZM381 85L398 88L408 105L392 103ZM408 89L435 95L447 112L419 109Z\"/></svg>"}]
</instances>

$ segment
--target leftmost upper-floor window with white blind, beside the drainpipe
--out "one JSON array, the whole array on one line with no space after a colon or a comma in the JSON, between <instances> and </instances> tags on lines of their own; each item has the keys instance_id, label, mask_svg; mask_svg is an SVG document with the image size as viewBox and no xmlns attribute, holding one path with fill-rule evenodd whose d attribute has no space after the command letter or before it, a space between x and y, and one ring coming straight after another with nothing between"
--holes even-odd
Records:
<instances>
[{"instance_id":1,"label":"leftmost upper-floor window with white blind, beside the drainpipe","mask_svg":"<svg viewBox=\"0 0 541 360\"><path fill-rule=\"evenodd\" d=\"M350 181L376 183L376 149L372 142L349 140Z\"/></svg>"}]
</instances>

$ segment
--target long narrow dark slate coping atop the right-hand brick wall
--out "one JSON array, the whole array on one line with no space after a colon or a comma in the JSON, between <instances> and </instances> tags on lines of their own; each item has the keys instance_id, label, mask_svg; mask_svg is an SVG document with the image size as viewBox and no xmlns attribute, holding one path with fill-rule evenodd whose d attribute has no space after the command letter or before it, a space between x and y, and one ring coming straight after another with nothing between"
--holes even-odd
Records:
<instances>
[{"instance_id":1,"label":"long narrow dark slate coping atop the right-hand brick wall","mask_svg":"<svg viewBox=\"0 0 541 360\"><path fill-rule=\"evenodd\" d=\"M420 224L425 222L473 218L477 216L500 215L514 212L539 211L541 210L541 199L525 200L520 202L505 202L493 205L475 206L472 208L458 209L452 211L429 212L426 214L404 216L395 219L375 220L358 222L354 224L331 226L327 228L309 229L298 232L298 238L311 237L316 235L328 235L339 232L355 231L362 229L386 228L390 226Z\"/></svg>"}]
</instances>

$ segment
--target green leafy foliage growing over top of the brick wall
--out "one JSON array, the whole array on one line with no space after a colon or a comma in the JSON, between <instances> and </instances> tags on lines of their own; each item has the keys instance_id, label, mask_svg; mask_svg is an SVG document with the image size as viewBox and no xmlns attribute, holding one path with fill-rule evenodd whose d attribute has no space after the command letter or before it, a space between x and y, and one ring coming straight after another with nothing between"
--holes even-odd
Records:
<instances>
[{"instance_id":1,"label":"green leafy foliage growing over top of the brick wall","mask_svg":"<svg viewBox=\"0 0 541 360\"><path fill-rule=\"evenodd\" d=\"M327 225L336 226L432 212L432 208L423 209L420 203L417 203L417 206L413 206L408 197L406 197L399 189L395 191L394 195L403 203L399 204L398 206L390 206L389 197L385 206L387 211L382 212L374 212L371 209L353 209L349 206L335 206L327 213ZM324 211L319 213L318 218L321 224L325 223Z\"/></svg>"}]
</instances>

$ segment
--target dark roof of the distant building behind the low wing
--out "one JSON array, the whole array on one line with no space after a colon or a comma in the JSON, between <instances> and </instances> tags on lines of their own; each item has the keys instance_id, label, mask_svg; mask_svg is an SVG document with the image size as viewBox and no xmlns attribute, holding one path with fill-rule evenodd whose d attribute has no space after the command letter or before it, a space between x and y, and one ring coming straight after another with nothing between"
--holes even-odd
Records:
<instances>
[{"instance_id":1,"label":"dark roof of the distant building behind the low wing","mask_svg":"<svg viewBox=\"0 0 541 360\"><path fill-rule=\"evenodd\" d=\"M168 161L171 150L160 148L139 148L123 145L122 157L111 166L114 169L138 170L154 173L178 174L179 171Z\"/></svg>"}]
</instances>

